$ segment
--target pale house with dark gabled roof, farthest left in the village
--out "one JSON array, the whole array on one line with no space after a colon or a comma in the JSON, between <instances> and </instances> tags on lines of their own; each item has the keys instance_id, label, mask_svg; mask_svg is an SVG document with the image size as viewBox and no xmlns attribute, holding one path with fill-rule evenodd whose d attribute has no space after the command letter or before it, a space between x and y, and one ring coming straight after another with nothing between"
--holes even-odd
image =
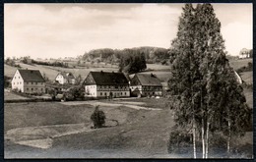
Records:
<instances>
[{"instance_id":1,"label":"pale house with dark gabled roof, farthest left in the village","mask_svg":"<svg viewBox=\"0 0 256 162\"><path fill-rule=\"evenodd\" d=\"M12 80L12 89L24 93L44 93L45 81L38 70L17 70Z\"/></svg>"}]
</instances>

